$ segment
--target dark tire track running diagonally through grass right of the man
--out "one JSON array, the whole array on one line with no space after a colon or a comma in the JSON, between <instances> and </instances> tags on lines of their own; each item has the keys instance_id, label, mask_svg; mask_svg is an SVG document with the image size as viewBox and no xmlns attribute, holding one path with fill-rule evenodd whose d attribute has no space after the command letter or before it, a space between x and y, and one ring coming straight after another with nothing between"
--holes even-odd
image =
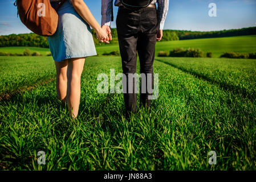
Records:
<instances>
[{"instance_id":1,"label":"dark tire track running diagonally through grass right of the man","mask_svg":"<svg viewBox=\"0 0 256 182\"><path fill-rule=\"evenodd\" d=\"M243 98L248 98L251 101L255 100L255 94L247 92L247 90L245 88L239 88L238 86L235 86L235 85L230 85L230 84L226 84L225 82L216 81L216 80L214 80L210 77L207 77L203 74L200 74L200 73L197 73L197 72L194 72L194 71L189 71L188 69L178 67L177 65L169 63L169 62L164 61L164 60L160 60L160 59L155 59L155 60L159 61L161 63L167 64L167 65L170 65L174 68L177 68L177 69L181 70L182 72L188 73L188 74L190 74L190 75L192 75L192 76L194 76L198 79L202 79L202 80L210 82L214 85L220 86L222 89L224 89L226 91L229 91L229 92L233 92L233 93L235 93L235 94L237 94L237 95L239 95Z\"/></svg>"}]
</instances>

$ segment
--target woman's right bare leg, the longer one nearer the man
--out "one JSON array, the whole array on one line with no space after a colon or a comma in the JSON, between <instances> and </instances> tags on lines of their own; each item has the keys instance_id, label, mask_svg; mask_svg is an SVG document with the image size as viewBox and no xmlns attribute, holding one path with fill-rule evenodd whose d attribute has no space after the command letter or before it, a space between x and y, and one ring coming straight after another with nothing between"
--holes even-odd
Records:
<instances>
[{"instance_id":1,"label":"woman's right bare leg, the longer one nearer the man","mask_svg":"<svg viewBox=\"0 0 256 182\"><path fill-rule=\"evenodd\" d=\"M68 59L67 68L67 103L70 115L78 116L81 91L81 75L84 68L85 58Z\"/></svg>"}]
</instances>

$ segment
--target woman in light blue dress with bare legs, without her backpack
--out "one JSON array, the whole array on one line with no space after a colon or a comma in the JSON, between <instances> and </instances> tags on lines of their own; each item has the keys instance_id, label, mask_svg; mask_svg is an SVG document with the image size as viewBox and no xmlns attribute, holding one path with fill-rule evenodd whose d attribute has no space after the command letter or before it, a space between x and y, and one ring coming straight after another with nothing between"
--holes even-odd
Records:
<instances>
[{"instance_id":1,"label":"woman in light blue dress with bare legs, without her backpack","mask_svg":"<svg viewBox=\"0 0 256 182\"><path fill-rule=\"evenodd\" d=\"M53 7L59 3L59 0L50 1ZM48 37L56 66L56 91L58 99L67 102L70 115L76 118L85 57L97 55L90 26L101 42L109 43L109 39L83 0L67 0L57 13L58 28Z\"/></svg>"}]
</instances>

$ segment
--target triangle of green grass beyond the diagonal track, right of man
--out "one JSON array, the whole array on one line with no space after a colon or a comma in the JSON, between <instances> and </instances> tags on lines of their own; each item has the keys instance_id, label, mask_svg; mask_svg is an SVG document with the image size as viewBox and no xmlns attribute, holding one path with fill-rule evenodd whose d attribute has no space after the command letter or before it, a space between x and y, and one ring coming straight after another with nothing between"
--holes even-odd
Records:
<instances>
[{"instance_id":1,"label":"triangle of green grass beyond the diagonal track, right of man","mask_svg":"<svg viewBox=\"0 0 256 182\"><path fill-rule=\"evenodd\" d=\"M196 77L233 90L242 96L256 98L256 61L248 59L209 59L156 57L157 60Z\"/></svg>"}]
</instances>

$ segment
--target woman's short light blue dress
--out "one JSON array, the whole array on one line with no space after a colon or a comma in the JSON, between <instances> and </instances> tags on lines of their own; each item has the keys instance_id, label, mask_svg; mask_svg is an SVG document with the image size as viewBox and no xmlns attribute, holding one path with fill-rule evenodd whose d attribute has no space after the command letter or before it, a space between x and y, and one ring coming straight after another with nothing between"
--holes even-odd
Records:
<instances>
[{"instance_id":1,"label":"woman's short light blue dress","mask_svg":"<svg viewBox=\"0 0 256 182\"><path fill-rule=\"evenodd\" d=\"M52 6L56 3L53 2ZM76 13L70 1L58 10L58 28L48 37L51 55L55 61L97 55L90 26Z\"/></svg>"}]
</instances>

